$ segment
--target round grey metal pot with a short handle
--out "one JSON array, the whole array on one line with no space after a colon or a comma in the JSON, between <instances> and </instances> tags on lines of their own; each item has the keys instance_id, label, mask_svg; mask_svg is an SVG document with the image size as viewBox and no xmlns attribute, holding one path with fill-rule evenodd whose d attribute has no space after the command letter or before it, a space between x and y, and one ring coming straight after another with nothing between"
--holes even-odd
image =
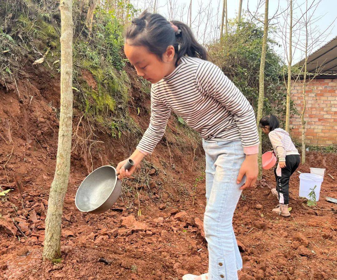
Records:
<instances>
[{"instance_id":1,"label":"round grey metal pot with a short handle","mask_svg":"<svg viewBox=\"0 0 337 280\"><path fill-rule=\"evenodd\" d=\"M129 170L132 160L123 166ZM113 166L105 165L91 172L79 186L75 205L81 212L100 214L109 210L118 200L122 191L122 181Z\"/></svg>"}]
</instances>

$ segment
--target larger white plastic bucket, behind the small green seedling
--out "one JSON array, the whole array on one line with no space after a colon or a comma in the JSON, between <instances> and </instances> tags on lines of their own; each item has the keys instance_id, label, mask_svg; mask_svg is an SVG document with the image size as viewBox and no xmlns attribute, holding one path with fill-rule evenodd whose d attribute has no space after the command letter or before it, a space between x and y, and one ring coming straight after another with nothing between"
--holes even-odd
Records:
<instances>
[{"instance_id":1,"label":"larger white plastic bucket, behind the small green seedling","mask_svg":"<svg viewBox=\"0 0 337 280\"><path fill-rule=\"evenodd\" d=\"M310 199L309 193L315 187L316 201L319 200L320 185L323 182L323 177L311 173L301 173L300 174L300 191L299 197L305 197Z\"/></svg>"}]
</instances>

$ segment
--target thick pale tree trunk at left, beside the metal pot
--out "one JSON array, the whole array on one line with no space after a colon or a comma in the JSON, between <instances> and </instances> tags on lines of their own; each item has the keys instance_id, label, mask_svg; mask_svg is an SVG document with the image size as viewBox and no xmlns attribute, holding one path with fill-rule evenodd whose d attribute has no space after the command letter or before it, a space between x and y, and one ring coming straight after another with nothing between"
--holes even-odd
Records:
<instances>
[{"instance_id":1,"label":"thick pale tree trunk at left, beside the metal pot","mask_svg":"<svg viewBox=\"0 0 337 280\"><path fill-rule=\"evenodd\" d=\"M45 219L43 259L61 256L62 208L67 191L72 132L72 0L61 0L61 111L55 176Z\"/></svg>"}]
</instances>

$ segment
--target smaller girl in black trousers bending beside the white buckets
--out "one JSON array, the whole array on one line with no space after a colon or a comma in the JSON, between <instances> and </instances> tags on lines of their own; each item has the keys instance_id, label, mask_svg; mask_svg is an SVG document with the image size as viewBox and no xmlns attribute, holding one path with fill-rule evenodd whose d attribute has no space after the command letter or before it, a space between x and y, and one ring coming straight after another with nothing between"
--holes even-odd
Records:
<instances>
[{"instance_id":1,"label":"smaller girl in black trousers bending beside the white buckets","mask_svg":"<svg viewBox=\"0 0 337 280\"><path fill-rule=\"evenodd\" d=\"M269 136L278 157L278 164L274 169L276 188L272 188L272 194L277 197L279 205L273 209L273 212L288 217L290 216L288 211L289 179L300 164L300 154L289 133L279 128L280 123L275 115L264 116L259 123L263 133Z\"/></svg>"}]
</instances>

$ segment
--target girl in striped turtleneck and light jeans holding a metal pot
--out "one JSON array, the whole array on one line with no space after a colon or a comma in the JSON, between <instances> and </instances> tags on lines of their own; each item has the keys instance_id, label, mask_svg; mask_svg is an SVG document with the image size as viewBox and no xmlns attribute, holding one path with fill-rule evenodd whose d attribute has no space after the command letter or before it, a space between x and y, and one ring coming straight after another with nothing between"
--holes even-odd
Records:
<instances>
[{"instance_id":1,"label":"girl in striped turtleneck and light jeans holding a metal pot","mask_svg":"<svg viewBox=\"0 0 337 280\"><path fill-rule=\"evenodd\" d=\"M160 141L171 112L203 138L206 153L208 273L183 280L238 279L242 259L232 219L241 192L257 177L258 134L252 106L179 21L143 12L125 32L124 52L137 75L151 86L149 128L129 157L130 170L118 164L119 178L131 176Z\"/></svg>"}]
</instances>

